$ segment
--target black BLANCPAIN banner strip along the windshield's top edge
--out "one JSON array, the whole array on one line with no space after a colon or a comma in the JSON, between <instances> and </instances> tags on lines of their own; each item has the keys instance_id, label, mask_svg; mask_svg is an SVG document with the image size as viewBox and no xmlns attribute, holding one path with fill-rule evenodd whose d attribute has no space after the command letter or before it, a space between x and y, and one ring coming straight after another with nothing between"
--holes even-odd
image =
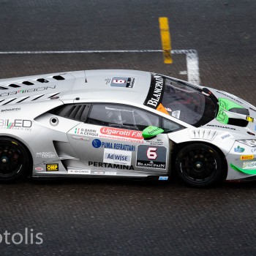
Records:
<instances>
[{"instance_id":1,"label":"black BLANCPAIN banner strip along the windshield's top edge","mask_svg":"<svg viewBox=\"0 0 256 256\"><path fill-rule=\"evenodd\" d=\"M163 92L165 88L165 78L162 75L151 74L151 84L148 96L144 102L149 108L157 109L162 102Z\"/></svg>"}]
</instances>

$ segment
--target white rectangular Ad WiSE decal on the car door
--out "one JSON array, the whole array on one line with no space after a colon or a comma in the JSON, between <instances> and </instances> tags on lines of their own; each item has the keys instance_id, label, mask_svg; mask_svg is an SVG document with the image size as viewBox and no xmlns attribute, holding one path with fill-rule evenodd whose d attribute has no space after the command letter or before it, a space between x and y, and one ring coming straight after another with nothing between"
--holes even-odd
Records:
<instances>
[{"instance_id":1,"label":"white rectangular Ad WiSE decal on the car door","mask_svg":"<svg viewBox=\"0 0 256 256\"><path fill-rule=\"evenodd\" d=\"M110 148L104 149L103 162L118 165L131 165L131 160L131 151L115 150Z\"/></svg>"}]
</instances>

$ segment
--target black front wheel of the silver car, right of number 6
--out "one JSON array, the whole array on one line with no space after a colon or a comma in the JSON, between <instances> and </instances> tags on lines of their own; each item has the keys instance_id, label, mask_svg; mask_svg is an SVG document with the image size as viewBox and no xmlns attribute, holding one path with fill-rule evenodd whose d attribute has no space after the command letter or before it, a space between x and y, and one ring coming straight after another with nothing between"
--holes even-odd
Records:
<instances>
[{"instance_id":1,"label":"black front wheel of the silver car, right of number 6","mask_svg":"<svg viewBox=\"0 0 256 256\"><path fill-rule=\"evenodd\" d=\"M222 176L222 158L213 147L193 143L178 152L176 171L190 186L208 187Z\"/></svg>"}]
</instances>

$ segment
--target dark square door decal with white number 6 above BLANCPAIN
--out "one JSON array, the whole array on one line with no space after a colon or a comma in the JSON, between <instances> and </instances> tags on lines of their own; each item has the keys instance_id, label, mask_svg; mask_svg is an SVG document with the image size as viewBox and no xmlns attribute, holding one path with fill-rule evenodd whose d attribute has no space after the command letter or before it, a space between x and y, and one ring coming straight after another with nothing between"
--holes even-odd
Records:
<instances>
[{"instance_id":1,"label":"dark square door decal with white number 6 above BLANCPAIN","mask_svg":"<svg viewBox=\"0 0 256 256\"><path fill-rule=\"evenodd\" d=\"M137 167L166 169L167 148L165 146L139 145L137 149Z\"/></svg>"}]
</instances>

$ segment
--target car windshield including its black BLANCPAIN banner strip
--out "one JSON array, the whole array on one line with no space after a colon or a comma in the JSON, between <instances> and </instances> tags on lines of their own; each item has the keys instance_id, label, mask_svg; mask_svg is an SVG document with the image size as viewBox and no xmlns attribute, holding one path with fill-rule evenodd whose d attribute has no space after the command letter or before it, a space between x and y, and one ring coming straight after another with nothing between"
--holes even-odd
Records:
<instances>
[{"instance_id":1,"label":"car windshield including its black BLANCPAIN banner strip","mask_svg":"<svg viewBox=\"0 0 256 256\"><path fill-rule=\"evenodd\" d=\"M151 88L144 104L195 127L207 124L217 113L217 105L207 94L157 74L152 74Z\"/></svg>"}]
</instances>

